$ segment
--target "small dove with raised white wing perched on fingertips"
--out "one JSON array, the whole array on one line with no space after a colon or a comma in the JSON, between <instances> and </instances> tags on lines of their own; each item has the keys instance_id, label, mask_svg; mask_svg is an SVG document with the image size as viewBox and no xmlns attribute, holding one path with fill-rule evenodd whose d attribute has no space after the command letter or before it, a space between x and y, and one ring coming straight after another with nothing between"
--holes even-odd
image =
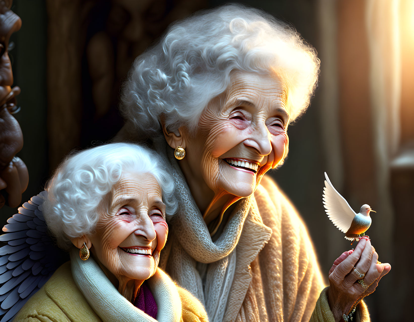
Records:
<instances>
[{"instance_id":1,"label":"small dove with raised white wing perched on fingertips","mask_svg":"<svg viewBox=\"0 0 414 322\"><path fill-rule=\"evenodd\" d=\"M348 240L359 240L371 226L370 211L373 211L368 204L364 204L356 214L344 197L336 191L328 175L325 172L325 188L323 188L323 205L329 219L345 233ZM376 211L374 211L376 212ZM351 243L351 245L352 245Z\"/></svg>"}]
</instances>

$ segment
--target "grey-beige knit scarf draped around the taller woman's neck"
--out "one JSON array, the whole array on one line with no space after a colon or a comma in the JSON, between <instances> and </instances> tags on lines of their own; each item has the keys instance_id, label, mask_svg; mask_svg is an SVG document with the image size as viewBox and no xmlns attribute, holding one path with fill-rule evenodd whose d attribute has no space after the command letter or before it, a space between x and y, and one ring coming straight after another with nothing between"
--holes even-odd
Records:
<instances>
[{"instance_id":1,"label":"grey-beige knit scarf draped around the taller woman's neck","mask_svg":"<svg viewBox=\"0 0 414 322\"><path fill-rule=\"evenodd\" d=\"M248 269L248 265L270 238L271 230L266 227L267 230L263 240L260 240L260 245L251 244L254 248L254 257L246 258L247 262L243 263L242 268L236 267L236 263L240 262L237 259L236 246L242 234L243 224L251 212L249 210L252 203L255 204L254 198L248 197L238 202L230 219L225 223L221 235L213 242L183 173L173 157L173 152L168 151L170 149L165 145L164 148L157 149L160 154L164 154L165 160L168 160L179 203L177 214L174 215L171 223L168 223L170 227L168 239L173 241L169 245L171 249L165 254L168 256L166 270L179 286L187 289L200 300L205 306L210 322L222 322L229 310L238 312L243 303L244 294L246 294L241 292L241 299L228 303L235 273L238 269ZM169 152L168 157L166 151ZM248 285L246 285L246 291L247 287Z\"/></svg>"}]
</instances>

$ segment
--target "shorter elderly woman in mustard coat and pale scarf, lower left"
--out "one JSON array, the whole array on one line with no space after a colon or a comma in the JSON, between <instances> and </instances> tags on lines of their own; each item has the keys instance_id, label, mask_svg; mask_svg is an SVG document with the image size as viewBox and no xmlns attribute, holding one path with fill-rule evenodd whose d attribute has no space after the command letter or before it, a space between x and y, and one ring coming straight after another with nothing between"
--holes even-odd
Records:
<instances>
[{"instance_id":1,"label":"shorter elderly woman in mustard coat and pale scarf, lower left","mask_svg":"<svg viewBox=\"0 0 414 322\"><path fill-rule=\"evenodd\" d=\"M71 261L14 321L207 321L202 305L157 269L173 189L158 156L135 144L66 159L46 187L43 216Z\"/></svg>"}]
</instances>

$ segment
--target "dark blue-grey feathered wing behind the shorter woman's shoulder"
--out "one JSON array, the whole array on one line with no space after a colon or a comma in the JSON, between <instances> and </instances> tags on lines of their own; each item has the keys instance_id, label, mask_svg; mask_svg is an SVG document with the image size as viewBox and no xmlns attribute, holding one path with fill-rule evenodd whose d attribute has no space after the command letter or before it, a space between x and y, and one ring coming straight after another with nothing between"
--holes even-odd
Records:
<instances>
[{"instance_id":1,"label":"dark blue-grey feathered wing behind the shorter woman's shoulder","mask_svg":"<svg viewBox=\"0 0 414 322\"><path fill-rule=\"evenodd\" d=\"M46 232L42 204L47 192L31 197L7 219L0 241L0 322L11 321L24 303L69 260Z\"/></svg>"}]
</instances>

